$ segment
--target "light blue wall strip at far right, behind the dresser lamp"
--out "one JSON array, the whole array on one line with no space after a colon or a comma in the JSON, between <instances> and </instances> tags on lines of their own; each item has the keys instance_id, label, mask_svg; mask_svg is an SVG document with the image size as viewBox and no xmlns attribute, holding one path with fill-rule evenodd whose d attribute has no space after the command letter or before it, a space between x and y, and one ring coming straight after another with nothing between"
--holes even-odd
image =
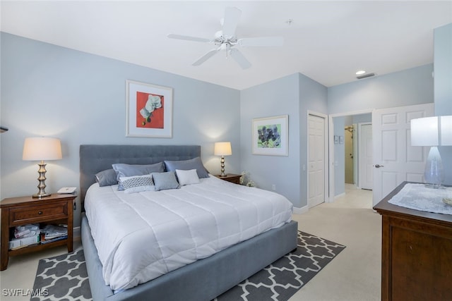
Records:
<instances>
[{"instance_id":1,"label":"light blue wall strip at far right, behind the dresser lamp","mask_svg":"<svg viewBox=\"0 0 452 301\"><path fill-rule=\"evenodd\" d=\"M435 115L452 115L452 23L434 30ZM444 183L452 185L452 146L439 147Z\"/></svg>"}]
</instances>

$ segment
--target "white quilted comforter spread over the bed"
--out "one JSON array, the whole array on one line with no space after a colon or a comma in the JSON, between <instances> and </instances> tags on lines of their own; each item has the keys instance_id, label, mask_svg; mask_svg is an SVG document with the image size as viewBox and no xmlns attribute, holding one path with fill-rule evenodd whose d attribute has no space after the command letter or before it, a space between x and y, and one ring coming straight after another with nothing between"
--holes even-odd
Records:
<instances>
[{"instance_id":1,"label":"white quilted comforter spread over the bed","mask_svg":"<svg viewBox=\"0 0 452 301\"><path fill-rule=\"evenodd\" d=\"M105 284L118 291L282 226L292 203L210 176L181 189L133 194L95 183L85 210Z\"/></svg>"}]
</instances>

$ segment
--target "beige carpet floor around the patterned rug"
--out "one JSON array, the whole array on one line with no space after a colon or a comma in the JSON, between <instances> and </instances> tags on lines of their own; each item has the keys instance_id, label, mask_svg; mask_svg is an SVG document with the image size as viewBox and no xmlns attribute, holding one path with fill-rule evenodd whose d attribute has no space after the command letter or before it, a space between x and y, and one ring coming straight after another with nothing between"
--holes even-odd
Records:
<instances>
[{"instance_id":1,"label":"beige carpet floor around the patterned rug","mask_svg":"<svg viewBox=\"0 0 452 301\"><path fill-rule=\"evenodd\" d=\"M347 247L319 272L290 301L381 300L381 217L371 209L371 191L347 185L346 194L334 203L321 204L306 214L295 214L299 230L333 240ZM74 250L80 245L75 242ZM39 259L66 252L64 247L11 257L8 269L0 272L2 301L30 300L20 295L31 290ZM4 289L17 289L16 296Z\"/></svg>"}]
</instances>

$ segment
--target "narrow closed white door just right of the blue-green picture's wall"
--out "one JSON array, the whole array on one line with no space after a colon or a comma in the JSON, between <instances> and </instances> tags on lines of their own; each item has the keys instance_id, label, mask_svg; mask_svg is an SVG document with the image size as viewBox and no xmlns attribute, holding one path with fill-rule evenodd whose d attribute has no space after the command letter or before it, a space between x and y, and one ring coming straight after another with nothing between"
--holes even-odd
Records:
<instances>
[{"instance_id":1,"label":"narrow closed white door just right of the blue-green picture's wall","mask_svg":"<svg viewBox=\"0 0 452 301\"><path fill-rule=\"evenodd\" d=\"M326 118L308 116L308 206L325 202Z\"/></svg>"}]
</instances>

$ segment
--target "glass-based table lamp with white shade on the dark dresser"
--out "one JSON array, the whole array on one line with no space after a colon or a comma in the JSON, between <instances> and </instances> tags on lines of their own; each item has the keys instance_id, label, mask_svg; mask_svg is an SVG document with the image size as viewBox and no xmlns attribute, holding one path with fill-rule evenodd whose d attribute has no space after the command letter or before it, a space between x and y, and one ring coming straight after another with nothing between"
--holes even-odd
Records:
<instances>
[{"instance_id":1,"label":"glass-based table lamp with white shade on the dark dresser","mask_svg":"<svg viewBox=\"0 0 452 301\"><path fill-rule=\"evenodd\" d=\"M452 116L434 116L411 120L411 145L430 147L424 180L434 188L444 181L444 167L438 146L452 145Z\"/></svg>"}]
</instances>

